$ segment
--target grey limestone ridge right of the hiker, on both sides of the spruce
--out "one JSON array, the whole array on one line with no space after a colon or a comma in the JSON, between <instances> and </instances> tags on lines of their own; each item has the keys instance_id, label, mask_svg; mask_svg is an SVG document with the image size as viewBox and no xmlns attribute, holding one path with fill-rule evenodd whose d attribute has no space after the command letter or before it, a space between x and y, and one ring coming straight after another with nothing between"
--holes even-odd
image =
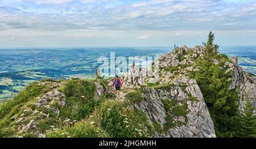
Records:
<instances>
[{"instance_id":1,"label":"grey limestone ridge right of the hiker, on both sides of the spruce","mask_svg":"<svg viewBox=\"0 0 256 149\"><path fill-rule=\"evenodd\" d=\"M194 66L198 58L203 57L203 46L195 46L195 48L176 47L172 52L164 54L158 59L160 75L159 87L144 88L143 101L135 105L150 117L149 121L156 121L162 129L168 117L172 117L172 122L179 122L168 131L155 133L155 137L216 137L212 118L210 118L207 105L200 91L196 80L189 78L191 71L197 71ZM218 63L216 60L215 63ZM233 71L233 83L230 89L237 88L240 95L240 109L245 106L247 99L253 100L256 107L256 76L242 71L242 67L237 65L237 57L230 58L230 62L226 62L225 66L229 67L227 71ZM130 73L124 76L124 84L127 88L137 88L143 85L147 86L150 78L133 77L135 70L139 70L137 66L131 68ZM140 69L139 74L145 70ZM228 73L228 72L227 72ZM139 86L139 85L141 86ZM165 87L160 87L165 86ZM187 106L183 116L175 116L168 114L164 109L166 100L177 101L181 106ZM175 109L175 108L172 108Z\"/></svg>"}]
</instances>

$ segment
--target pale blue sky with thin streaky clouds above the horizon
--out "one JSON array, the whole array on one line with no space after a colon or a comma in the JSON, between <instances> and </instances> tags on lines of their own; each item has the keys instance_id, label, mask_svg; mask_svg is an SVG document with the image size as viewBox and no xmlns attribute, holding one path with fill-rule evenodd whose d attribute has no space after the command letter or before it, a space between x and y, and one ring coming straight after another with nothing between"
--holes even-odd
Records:
<instances>
[{"instance_id":1,"label":"pale blue sky with thin streaky clouds above the horizon","mask_svg":"<svg viewBox=\"0 0 256 149\"><path fill-rule=\"evenodd\" d=\"M0 0L0 48L256 45L256 0Z\"/></svg>"}]
</instances>

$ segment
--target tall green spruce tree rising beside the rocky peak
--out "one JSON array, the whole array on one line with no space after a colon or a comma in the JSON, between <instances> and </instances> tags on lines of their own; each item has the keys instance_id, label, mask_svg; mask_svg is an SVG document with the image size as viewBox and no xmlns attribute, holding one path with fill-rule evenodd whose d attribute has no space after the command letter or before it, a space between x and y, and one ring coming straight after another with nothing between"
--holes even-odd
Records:
<instances>
[{"instance_id":1,"label":"tall green spruce tree rising beside the rocky peak","mask_svg":"<svg viewBox=\"0 0 256 149\"><path fill-rule=\"evenodd\" d=\"M231 73L226 73L224 63L228 60L225 55L217 54L218 45L214 45L214 34L209 33L205 46L204 57L197 61L199 71L193 74L200 86L207 103L210 116L213 119L217 137L234 137L238 120L238 92L230 90ZM218 63L214 63L214 61Z\"/></svg>"}]
</instances>

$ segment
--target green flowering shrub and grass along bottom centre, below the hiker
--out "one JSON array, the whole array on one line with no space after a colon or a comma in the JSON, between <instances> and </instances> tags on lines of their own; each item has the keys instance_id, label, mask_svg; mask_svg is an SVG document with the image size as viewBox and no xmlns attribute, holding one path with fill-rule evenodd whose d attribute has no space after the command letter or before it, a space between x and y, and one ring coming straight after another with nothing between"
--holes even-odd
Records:
<instances>
[{"instance_id":1,"label":"green flowering shrub and grass along bottom centre, below the hiker","mask_svg":"<svg viewBox=\"0 0 256 149\"><path fill-rule=\"evenodd\" d=\"M106 100L85 121L49 131L47 137L152 137L154 128L148 124L146 113L125 107L125 103Z\"/></svg>"}]
</instances>

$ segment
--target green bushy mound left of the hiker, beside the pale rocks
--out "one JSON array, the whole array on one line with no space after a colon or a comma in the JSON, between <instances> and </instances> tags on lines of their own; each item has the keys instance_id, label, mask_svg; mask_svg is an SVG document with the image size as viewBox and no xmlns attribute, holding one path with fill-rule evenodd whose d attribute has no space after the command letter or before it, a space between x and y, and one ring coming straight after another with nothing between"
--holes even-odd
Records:
<instances>
[{"instance_id":1,"label":"green bushy mound left of the hiker, beside the pale rocks","mask_svg":"<svg viewBox=\"0 0 256 149\"><path fill-rule=\"evenodd\" d=\"M71 79L59 91L67 96L65 107L59 107L60 116L71 120L85 118L104 99L103 96L101 100L94 100L96 85L93 80Z\"/></svg>"}]
</instances>

